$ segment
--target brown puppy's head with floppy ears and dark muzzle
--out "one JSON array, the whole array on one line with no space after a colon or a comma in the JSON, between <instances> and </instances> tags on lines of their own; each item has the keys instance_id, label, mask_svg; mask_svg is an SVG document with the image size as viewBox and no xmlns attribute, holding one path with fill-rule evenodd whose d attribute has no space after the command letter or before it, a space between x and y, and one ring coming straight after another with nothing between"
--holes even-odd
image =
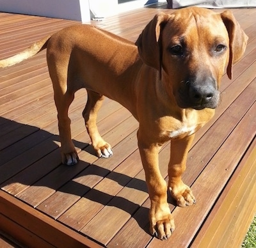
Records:
<instances>
[{"instance_id":1,"label":"brown puppy's head with floppy ears and dark muzzle","mask_svg":"<svg viewBox=\"0 0 256 248\"><path fill-rule=\"evenodd\" d=\"M243 56L247 40L232 12L192 7L156 15L136 45L179 107L214 109L225 66L231 79L232 65Z\"/></svg>"}]
</instances>

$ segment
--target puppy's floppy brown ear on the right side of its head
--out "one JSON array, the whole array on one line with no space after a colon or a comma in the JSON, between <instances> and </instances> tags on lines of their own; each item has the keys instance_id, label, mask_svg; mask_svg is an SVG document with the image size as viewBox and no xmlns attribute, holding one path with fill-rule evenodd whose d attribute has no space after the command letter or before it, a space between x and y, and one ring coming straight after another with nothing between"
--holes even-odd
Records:
<instances>
[{"instance_id":1,"label":"puppy's floppy brown ear on the right side of its head","mask_svg":"<svg viewBox=\"0 0 256 248\"><path fill-rule=\"evenodd\" d=\"M229 37L229 61L227 66L227 74L232 79L232 65L239 61L244 54L248 36L245 35L234 15L230 11L221 13L221 18L227 28Z\"/></svg>"}]
</instances>

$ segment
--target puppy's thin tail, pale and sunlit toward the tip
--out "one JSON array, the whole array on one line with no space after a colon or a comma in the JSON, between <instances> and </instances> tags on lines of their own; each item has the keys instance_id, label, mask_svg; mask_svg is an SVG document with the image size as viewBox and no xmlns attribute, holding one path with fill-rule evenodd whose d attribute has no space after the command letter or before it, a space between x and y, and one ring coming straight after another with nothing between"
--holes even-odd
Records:
<instances>
[{"instance_id":1,"label":"puppy's thin tail, pale and sunlit toward the tip","mask_svg":"<svg viewBox=\"0 0 256 248\"><path fill-rule=\"evenodd\" d=\"M41 50L44 50L47 47L47 43L51 35L46 36L42 40L33 43L28 49L16 54L10 58L0 60L0 68L8 67L20 63L21 61L31 58Z\"/></svg>"}]
</instances>

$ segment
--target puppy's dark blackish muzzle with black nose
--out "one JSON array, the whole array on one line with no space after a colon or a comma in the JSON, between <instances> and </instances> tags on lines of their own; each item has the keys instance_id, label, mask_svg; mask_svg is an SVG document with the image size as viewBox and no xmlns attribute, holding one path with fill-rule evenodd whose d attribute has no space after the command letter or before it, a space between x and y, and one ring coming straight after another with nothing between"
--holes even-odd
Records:
<instances>
[{"instance_id":1,"label":"puppy's dark blackish muzzle with black nose","mask_svg":"<svg viewBox=\"0 0 256 248\"><path fill-rule=\"evenodd\" d=\"M184 82L177 95L179 107L193 108L196 110L211 108L215 109L220 100L220 91L216 87L216 81L212 77L202 80L189 79Z\"/></svg>"}]
</instances>

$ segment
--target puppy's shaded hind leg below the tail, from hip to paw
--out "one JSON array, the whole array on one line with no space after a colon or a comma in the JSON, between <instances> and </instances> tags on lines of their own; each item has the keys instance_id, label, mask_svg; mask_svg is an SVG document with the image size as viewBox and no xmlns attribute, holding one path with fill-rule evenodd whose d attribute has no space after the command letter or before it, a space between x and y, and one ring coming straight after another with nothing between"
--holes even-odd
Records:
<instances>
[{"instance_id":1,"label":"puppy's shaded hind leg below the tail, from hip to paw","mask_svg":"<svg viewBox=\"0 0 256 248\"><path fill-rule=\"evenodd\" d=\"M70 73L69 54L61 52L61 45L56 45L58 40L52 40L47 47L47 64L54 89L54 101L58 111L58 127L61 142L61 160L67 166L73 166L78 162L77 151L71 139L70 118L68 108L74 100L76 89L71 82L74 76ZM58 48L59 47L59 48ZM68 87L69 86L69 87Z\"/></svg>"}]
</instances>

